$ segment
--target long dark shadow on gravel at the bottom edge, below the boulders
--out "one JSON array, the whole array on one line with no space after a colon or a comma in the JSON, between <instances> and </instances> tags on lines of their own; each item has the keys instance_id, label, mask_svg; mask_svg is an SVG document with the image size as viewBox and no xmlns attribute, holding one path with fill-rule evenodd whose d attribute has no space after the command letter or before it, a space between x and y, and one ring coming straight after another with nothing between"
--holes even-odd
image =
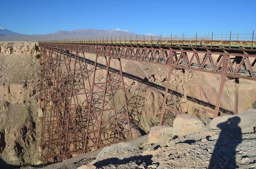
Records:
<instances>
[{"instance_id":1,"label":"long dark shadow on gravel at the bottom edge, below the boulders","mask_svg":"<svg viewBox=\"0 0 256 169\"><path fill-rule=\"evenodd\" d=\"M151 165L152 164L152 155L138 155L138 156L132 156L129 158L108 158L108 159L104 159L102 161L98 161L96 163L94 163L93 165L97 168L102 168L103 166L108 166L108 165L124 165L127 163L132 163L134 162L134 164L136 163L137 165L140 165L142 163L146 163L146 165ZM110 166L111 167L111 166ZM129 166L131 167L131 166Z\"/></svg>"}]
</instances>

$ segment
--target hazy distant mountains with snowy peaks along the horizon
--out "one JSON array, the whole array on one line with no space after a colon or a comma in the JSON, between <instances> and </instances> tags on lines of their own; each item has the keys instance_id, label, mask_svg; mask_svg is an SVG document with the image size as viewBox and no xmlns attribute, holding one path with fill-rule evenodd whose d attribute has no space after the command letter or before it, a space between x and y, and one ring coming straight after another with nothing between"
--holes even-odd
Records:
<instances>
[{"instance_id":1,"label":"hazy distant mountains with snowy peaks along the horizon","mask_svg":"<svg viewBox=\"0 0 256 169\"><path fill-rule=\"evenodd\" d=\"M88 35L88 36L135 36L138 35L136 33L133 33L132 31L126 29L121 30L119 28L114 30L97 30L97 29L77 29L72 31L56 31L54 33L46 34L47 36L63 36L63 35ZM148 33L147 35L152 35L151 33ZM24 34L16 33L13 31L10 31L2 26L0 26L0 36L24 36ZM39 35L44 36L44 35Z\"/></svg>"}]
</instances>

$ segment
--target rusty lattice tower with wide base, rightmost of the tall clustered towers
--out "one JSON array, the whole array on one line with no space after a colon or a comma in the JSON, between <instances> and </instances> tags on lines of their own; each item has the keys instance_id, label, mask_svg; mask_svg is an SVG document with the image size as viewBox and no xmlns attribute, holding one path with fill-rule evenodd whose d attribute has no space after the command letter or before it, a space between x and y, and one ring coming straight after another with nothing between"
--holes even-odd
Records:
<instances>
[{"instance_id":1,"label":"rusty lattice tower with wide base, rightmost of the tall clustered towers","mask_svg":"<svg viewBox=\"0 0 256 169\"><path fill-rule=\"evenodd\" d=\"M106 63L106 69L97 68L99 63L99 58L104 58L103 60ZM90 114L88 118L87 125L87 137L88 137L88 145L90 144L94 149L104 147L113 143L118 143L120 141L129 140L132 138L130 131L130 120L128 116L128 108L126 103L126 94L124 90L124 82L122 77L122 67L121 61L118 60L119 71L110 72L110 62L112 60L111 57L96 55L95 67L94 67L94 76L92 83L92 97L90 100ZM104 83L96 83L95 74L97 72L105 71L105 82ZM114 78L119 77L119 80L114 80ZM118 84L115 84L118 83ZM114 102L115 94L118 93L119 90L122 90L121 94L124 98L124 110L118 110L115 106L117 101ZM114 93L115 92L115 93ZM95 93L101 98L94 97ZM111 98L112 107L108 107L106 102L106 96L108 95L108 99ZM109 97L111 96L111 97ZM109 100L109 101L110 101ZM119 103L120 104L120 103ZM107 109L105 107L108 107ZM125 113L123 113L123 112ZM110 115L112 114L112 115ZM109 116L109 120L103 120L103 116ZM111 116L111 117L110 117ZM91 124L91 125L89 125ZM104 133L108 132L111 134L112 140L106 141L106 138L103 137ZM94 139L92 139L94 138ZM110 141L110 142L109 142Z\"/></svg>"}]
</instances>

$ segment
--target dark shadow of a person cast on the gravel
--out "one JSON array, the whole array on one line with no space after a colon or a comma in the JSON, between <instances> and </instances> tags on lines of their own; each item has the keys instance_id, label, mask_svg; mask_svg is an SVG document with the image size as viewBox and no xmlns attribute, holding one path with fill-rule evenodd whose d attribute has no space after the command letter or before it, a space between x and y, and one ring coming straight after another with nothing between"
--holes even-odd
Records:
<instances>
[{"instance_id":1,"label":"dark shadow of a person cast on the gravel","mask_svg":"<svg viewBox=\"0 0 256 169\"><path fill-rule=\"evenodd\" d=\"M217 125L221 132L210 159L209 169L217 169L221 165L239 168L236 165L236 146L242 141L239 122L240 118L235 116Z\"/></svg>"}]
</instances>

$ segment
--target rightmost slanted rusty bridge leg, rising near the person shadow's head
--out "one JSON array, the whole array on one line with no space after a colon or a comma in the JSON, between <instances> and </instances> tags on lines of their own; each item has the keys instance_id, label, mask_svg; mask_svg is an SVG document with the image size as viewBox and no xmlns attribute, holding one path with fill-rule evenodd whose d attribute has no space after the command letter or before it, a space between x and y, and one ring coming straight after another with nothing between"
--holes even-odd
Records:
<instances>
[{"instance_id":1,"label":"rightmost slanted rusty bridge leg, rising near the person shadow's head","mask_svg":"<svg viewBox=\"0 0 256 169\"><path fill-rule=\"evenodd\" d=\"M226 80L226 76L224 76L224 74L226 73L226 67L227 67L226 57L227 57L227 55L224 54L223 55L223 60L222 60L222 76L221 76L221 83L220 83L220 91L219 91L219 94L218 94L218 99L217 99L217 103L216 103L216 106L215 106L213 118L216 118L218 116L218 111L219 111L219 108L220 108L220 100L221 100L221 96L222 96L222 92L223 92L223 88L224 88L224 84L225 84L225 80Z\"/></svg>"}]
</instances>

